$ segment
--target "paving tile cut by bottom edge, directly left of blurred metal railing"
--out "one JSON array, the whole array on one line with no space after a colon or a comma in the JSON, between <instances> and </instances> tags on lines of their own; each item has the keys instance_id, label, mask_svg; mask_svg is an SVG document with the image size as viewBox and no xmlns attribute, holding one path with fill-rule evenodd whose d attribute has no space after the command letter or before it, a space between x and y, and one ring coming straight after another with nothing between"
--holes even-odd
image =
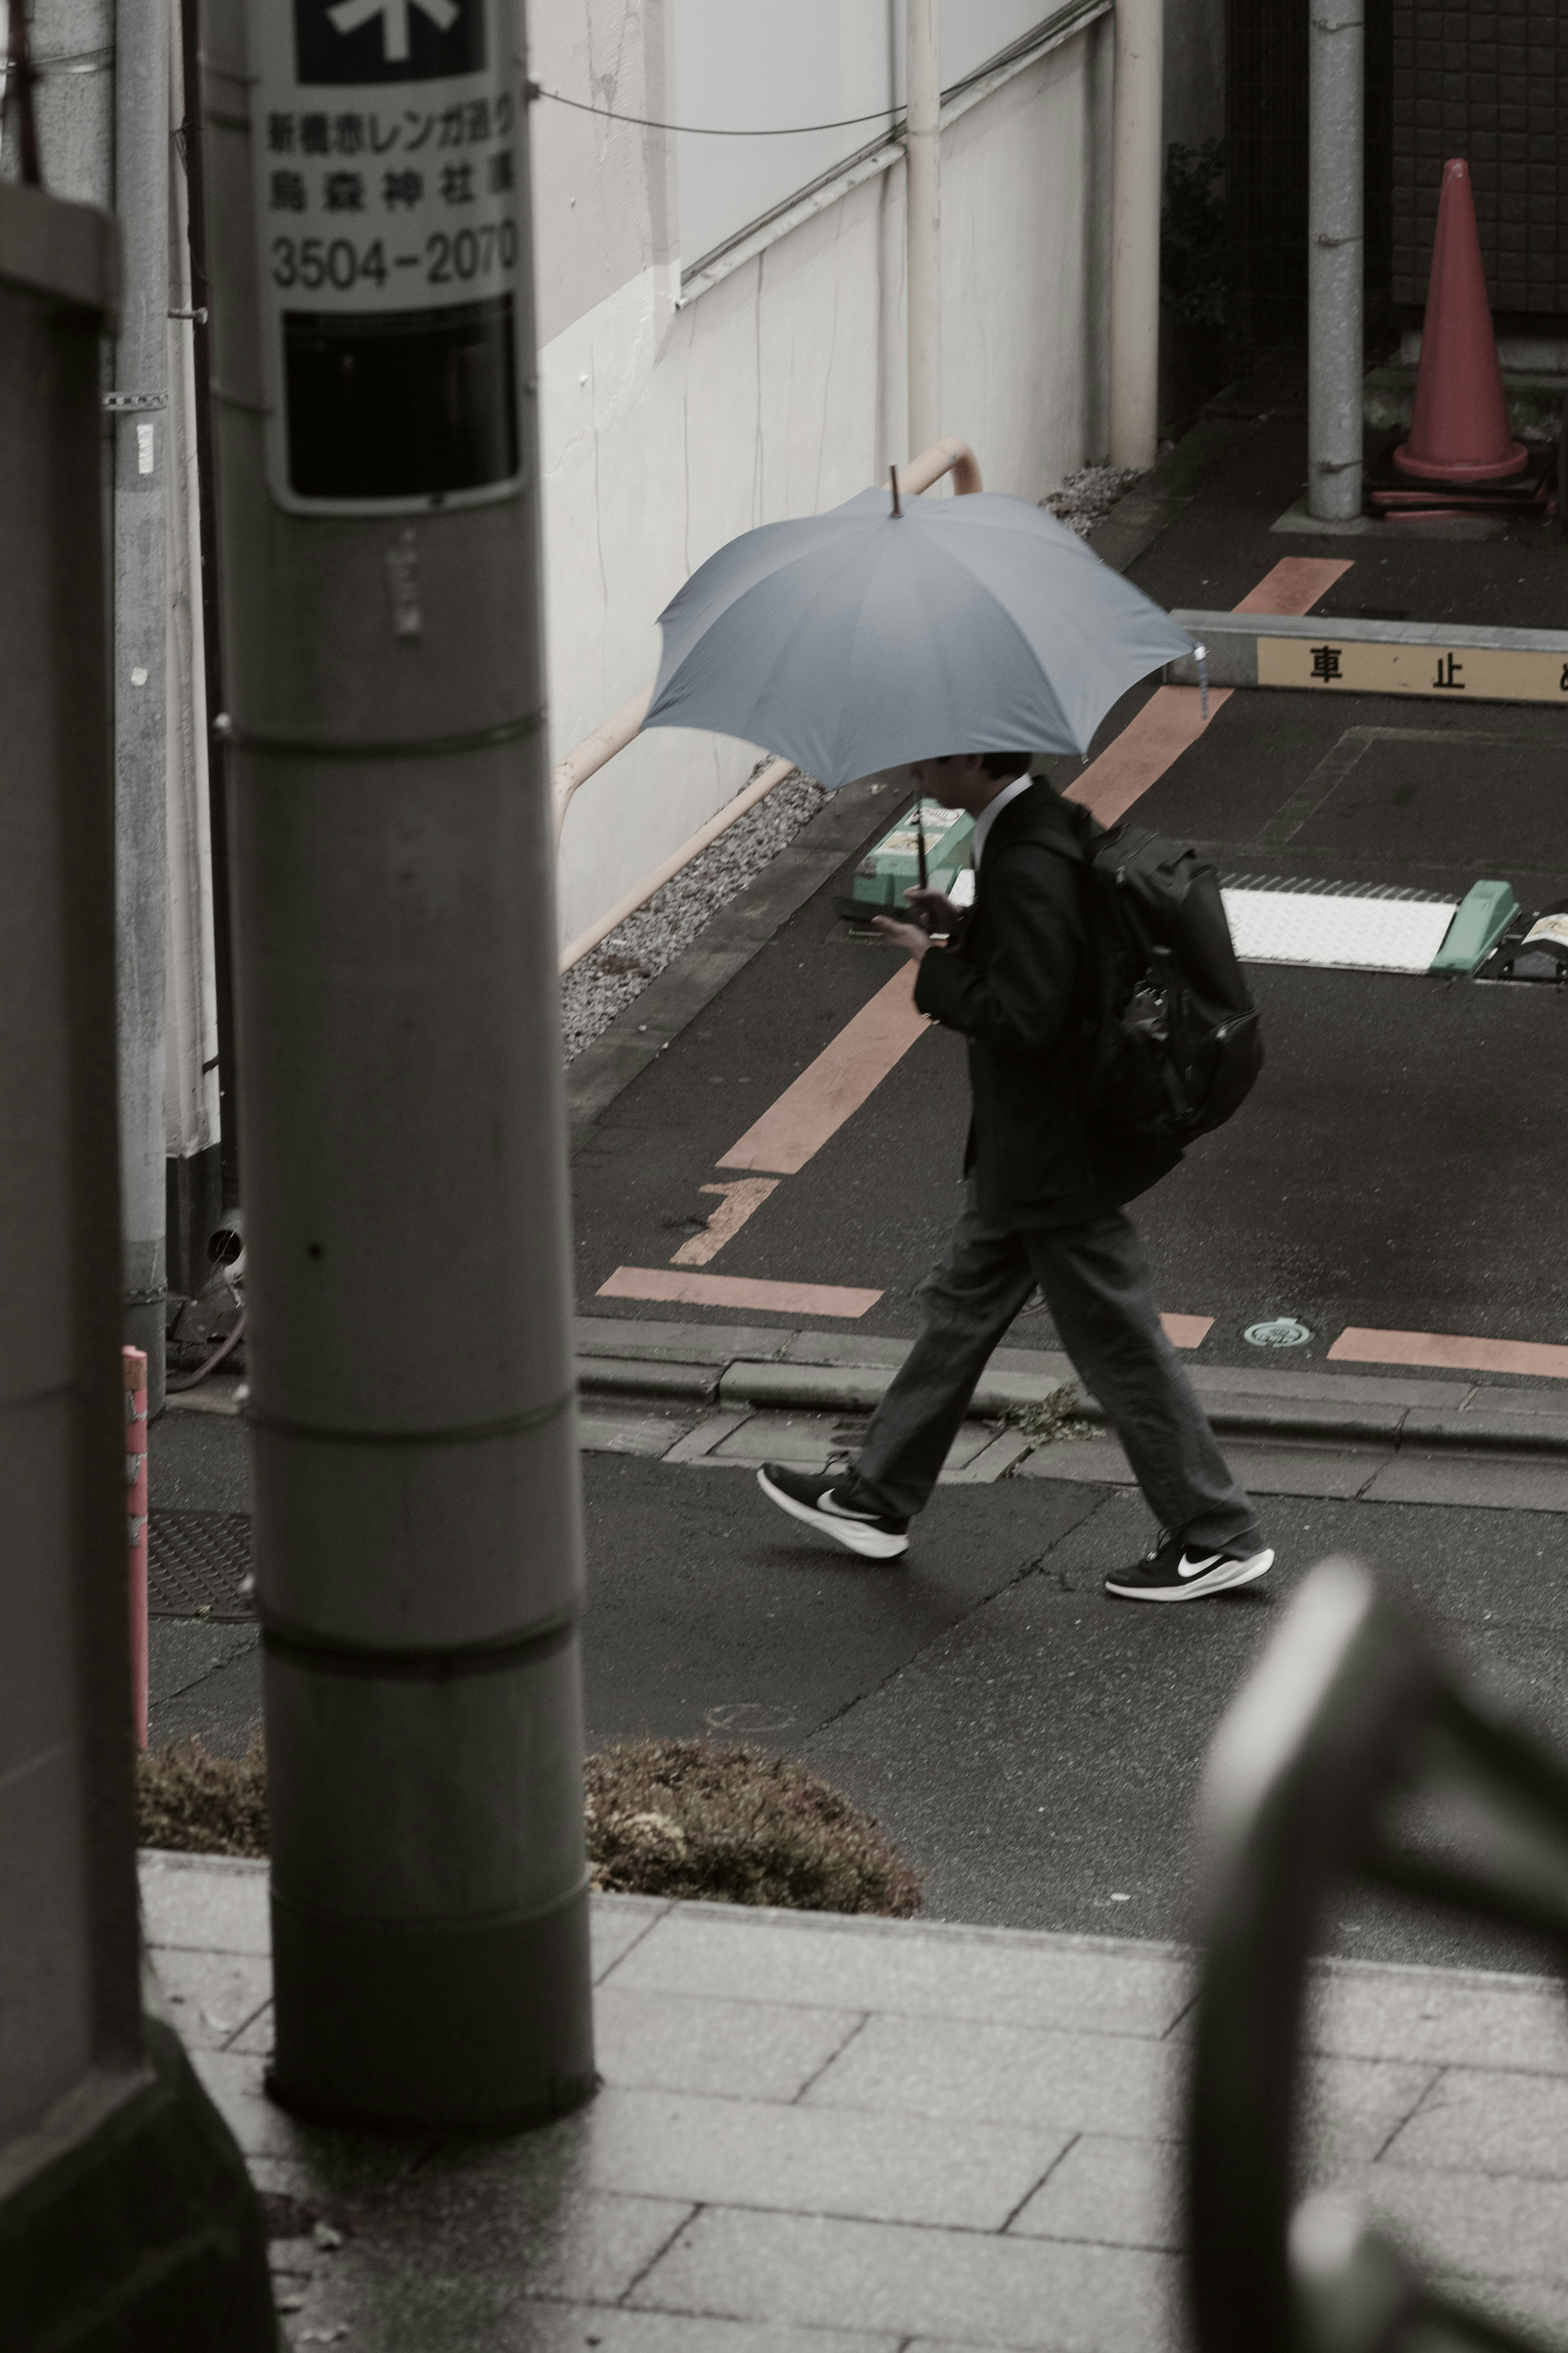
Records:
<instances>
[{"instance_id":1,"label":"paving tile cut by bottom edge, directly left of blurred metal railing","mask_svg":"<svg viewBox=\"0 0 1568 2353\"><path fill-rule=\"evenodd\" d=\"M708 2207L637 2282L637 2308L966 2346L1164 2353L1180 2344L1166 2254Z\"/></svg>"}]
</instances>

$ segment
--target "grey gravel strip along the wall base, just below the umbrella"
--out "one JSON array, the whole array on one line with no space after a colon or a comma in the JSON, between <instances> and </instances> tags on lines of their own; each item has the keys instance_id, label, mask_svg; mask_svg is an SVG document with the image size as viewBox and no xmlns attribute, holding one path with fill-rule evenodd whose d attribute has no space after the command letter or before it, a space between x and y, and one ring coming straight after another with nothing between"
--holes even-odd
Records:
<instances>
[{"instance_id":1,"label":"grey gravel strip along the wall base, just below the umbrella","mask_svg":"<svg viewBox=\"0 0 1568 2353\"><path fill-rule=\"evenodd\" d=\"M769 760L759 760L759 776ZM672 875L646 906L590 948L562 976L562 1052L571 1061L607 1031L623 1005L689 948L703 925L743 889L769 859L785 849L827 793L799 769L776 784L766 800L748 809L729 833Z\"/></svg>"}]
</instances>

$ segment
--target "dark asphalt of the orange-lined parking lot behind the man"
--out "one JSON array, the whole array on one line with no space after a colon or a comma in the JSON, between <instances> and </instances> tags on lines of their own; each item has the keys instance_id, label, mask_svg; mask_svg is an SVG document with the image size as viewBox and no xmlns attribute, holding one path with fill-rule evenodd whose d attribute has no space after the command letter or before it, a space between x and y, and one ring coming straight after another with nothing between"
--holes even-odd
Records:
<instances>
[{"instance_id":1,"label":"dark asphalt of the orange-lined parking lot behind the man","mask_svg":"<svg viewBox=\"0 0 1568 2353\"><path fill-rule=\"evenodd\" d=\"M1335 612L1568 619L1561 541L1300 541L1267 522L1295 496L1300 426L1265 426L1133 567L1171 605L1232 605L1281 555L1347 555ZM1135 713L1110 713L1100 744ZM1067 781L1072 762L1053 762ZM1568 899L1563 715L1526 704L1248 692L1135 805L1220 873L1462 894L1509 880ZM884 831L879 819L877 831ZM870 835L867 835L870 838ZM616 1266L668 1266L708 1217L724 1151L882 988L896 953L832 911L853 859L682 1031L574 1148L578 1301ZM1568 1339L1568 991L1253 965L1267 1068L1135 1217L1157 1297L1213 1315L1206 1362L1246 1362L1253 1322L1293 1315L1316 1362L1347 1325ZM858 1329L917 1329L914 1285L954 1214L964 1047L931 1031L724 1245L712 1273L877 1287ZM703 1318L724 1311L682 1306ZM1018 1339L1051 1346L1044 1313Z\"/></svg>"}]
</instances>

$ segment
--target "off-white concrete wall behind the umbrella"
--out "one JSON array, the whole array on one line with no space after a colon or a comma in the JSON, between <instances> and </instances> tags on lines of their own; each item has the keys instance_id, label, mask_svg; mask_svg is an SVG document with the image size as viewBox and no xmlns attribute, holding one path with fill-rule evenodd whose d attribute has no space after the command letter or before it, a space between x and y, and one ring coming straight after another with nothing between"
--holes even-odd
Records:
<instances>
[{"instance_id":1,"label":"off-white concrete wall behind the umbrella","mask_svg":"<svg viewBox=\"0 0 1568 2353\"><path fill-rule=\"evenodd\" d=\"M661 0L536 7L529 68L665 113ZM1103 454L1110 21L943 136L945 428L987 487L1039 499ZM534 106L550 746L654 678L656 616L736 532L884 480L905 452L903 165L679 304L672 141ZM1100 125L1100 127L1095 127ZM769 746L656 729L578 793L562 941L733 791Z\"/></svg>"}]
</instances>

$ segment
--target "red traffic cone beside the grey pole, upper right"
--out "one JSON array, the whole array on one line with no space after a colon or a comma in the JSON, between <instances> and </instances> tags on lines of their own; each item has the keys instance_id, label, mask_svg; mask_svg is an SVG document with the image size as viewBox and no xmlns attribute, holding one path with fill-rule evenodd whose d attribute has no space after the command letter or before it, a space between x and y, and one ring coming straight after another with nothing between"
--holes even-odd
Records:
<instances>
[{"instance_id":1,"label":"red traffic cone beside the grey pole, upper right","mask_svg":"<svg viewBox=\"0 0 1568 2353\"><path fill-rule=\"evenodd\" d=\"M1418 482L1500 482L1523 473L1528 459L1509 433L1469 165L1446 162L1415 414L1394 464Z\"/></svg>"}]
</instances>

